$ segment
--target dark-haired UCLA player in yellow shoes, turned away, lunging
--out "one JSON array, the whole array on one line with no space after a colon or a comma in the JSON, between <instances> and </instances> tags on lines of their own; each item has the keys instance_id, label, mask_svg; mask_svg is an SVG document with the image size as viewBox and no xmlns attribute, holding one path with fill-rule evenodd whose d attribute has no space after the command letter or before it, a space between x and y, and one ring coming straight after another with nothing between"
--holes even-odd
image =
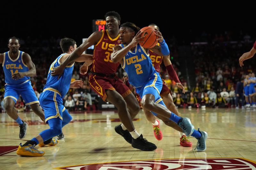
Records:
<instances>
[{"instance_id":1,"label":"dark-haired UCLA player in yellow shoes, turned away, lunging","mask_svg":"<svg viewBox=\"0 0 256 170\"><path fill-rule=\"evenodd\" d=\"M58 139L52 139L52 137L59 135L61 133L61 128L68 124L72 119L66 108L62 105L62 99L67 94L69 88L82 87L83 81L76 80L70 83L74 62L69 63L65 67L60 79L56 76L51 76L52 69L59 66L68 57L68 55L76 49L76 41L70 38L61 39L60 47L63 54L56 58L56 60L51 64L46 85L44 86L44 90L40 94L39 98L40 105L44 109L45 122L49 124L50 129L42 131L39 135L27 141L23 145L20 143L17 150L17 154L20 156L43 156L44 151L38 151L34 147L37 144L40 146L44 146L49 143L50 145L58 144ZM76 62L84 61L92 61L92 55L83 54L76 59Z\"/></svg>"}]
</instances>

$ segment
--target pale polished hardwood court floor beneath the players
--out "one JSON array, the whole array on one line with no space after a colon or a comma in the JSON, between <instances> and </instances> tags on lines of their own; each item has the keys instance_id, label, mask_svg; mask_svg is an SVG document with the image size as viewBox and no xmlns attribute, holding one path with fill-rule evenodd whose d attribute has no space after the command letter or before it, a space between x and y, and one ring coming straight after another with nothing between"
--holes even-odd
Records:
<instances>
[{"instance_id":1,"label":"pale polished hardwood court floor beneath the players","mask_svg":"<svg viewBox=\"0 0 256 170\"><path fill-rule=\"evenodd\" d=\"M0 169L51 169L104 162L154 159L180 159L177 161L184 162L184 159L195 158L204 160L206 158L243 158L256 162L255 110L206 108L205 111L202 109L190 111L179 109L179 111L183 117L190 118L195 129L200 127L200 130L207 131L206 152L194 151L197 143L194 137L190 138L193 143L192 147L180 146L179 133L164 125L162 121L160 121L160 128L164 137L161 141L157 141L153 134L152 124L146 120L142 111L137 115L134 126L144 138L155 143L157 149L151 152L134 149L114 130L115 126L120 124L117 113L102 111L71 114L72 122L62 129L65 140L60 140L56 146L43 148L36 146L39 150L45 151L43 157L20 157L16 155L19 143L24 144L26 140L30 140L42 130L47 129L48 125L40 121L34 113L20 113L20 117L27 121L29 126L27 136L19 139L19 126L6 113L3 113L0 114ZM73 169L81 167L77 166ZM86 169L85 167L81 169ZM107 168L100 167L89 168L88 166L87 169L107 170ZM125 170L133 167L123 168ZM153 169L164 168L154 166Z\"/></svg>"}]
</instances>

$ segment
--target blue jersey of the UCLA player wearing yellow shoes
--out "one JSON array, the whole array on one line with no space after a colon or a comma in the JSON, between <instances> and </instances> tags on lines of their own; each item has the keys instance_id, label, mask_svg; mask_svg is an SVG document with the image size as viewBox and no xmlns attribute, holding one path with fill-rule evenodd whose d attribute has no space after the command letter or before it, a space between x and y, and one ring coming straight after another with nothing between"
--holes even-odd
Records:
<instances>
[{"instance_id":1,"label":"blue jersey of the UCLA player wearing yellow shoes","mask_svg":"<svg viewBox=\"0 0 256 170\"><path fill-rule=\"evenodd\" d=\"M44 91L50 90L50 91L58 92L60 94L61 98L64 98L64 96L68 92L73 69L74 69L74 63L70 66L66 66L60 79L58 79L58 76L52 76L51 72L54 67L57 67L60 65L60 58L65 54L67 54L67 53L61 54L51 64L49 72L48 72L48 76L47 76L46 85L44 86Z\"/></svg>"}]
</instances>

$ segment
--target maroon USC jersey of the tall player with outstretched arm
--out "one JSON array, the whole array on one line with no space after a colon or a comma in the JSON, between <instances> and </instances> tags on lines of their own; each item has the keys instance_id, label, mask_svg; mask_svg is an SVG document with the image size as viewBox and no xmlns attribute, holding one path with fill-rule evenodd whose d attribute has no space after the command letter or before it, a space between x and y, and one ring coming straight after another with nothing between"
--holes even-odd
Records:
<instances>
[{"instance_id":1,"label":"maroon USC jersey of the tall player with outstretched arm","mask_svg":"<svg viewBox=\"0 0 256 170\"><path fill-rule=\"evenodd\" d=\"M103 74L116 73L120 63L113 63L110 55L113 52L113 47L120 43L119 34L115 39L112 39L108 35L108 30L102 30L100 41L94 46L91 71Z\"/></svg>"}]
</instances>

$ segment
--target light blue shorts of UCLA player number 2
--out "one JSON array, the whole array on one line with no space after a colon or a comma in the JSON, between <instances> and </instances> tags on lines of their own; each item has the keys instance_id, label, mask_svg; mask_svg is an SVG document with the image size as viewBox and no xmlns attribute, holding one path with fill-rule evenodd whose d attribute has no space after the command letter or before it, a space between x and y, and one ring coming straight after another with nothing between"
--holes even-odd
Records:
<instances>
[{"instance_id":1,"label":"light blue shorts of UCLA player number 2","mask_svg":"<svg viewBox=\"0 0 256 170\"><path fill-rule=\"evenodd\" d=\"M141 96L141 99L145 94L153 94L156 102L157 100L161 99L160 92L162 87L162 78L158 72L155 72L150 76L148 82L146 82L143 86L136 88L136 92Z\"/></svg>"}]
</instances>

